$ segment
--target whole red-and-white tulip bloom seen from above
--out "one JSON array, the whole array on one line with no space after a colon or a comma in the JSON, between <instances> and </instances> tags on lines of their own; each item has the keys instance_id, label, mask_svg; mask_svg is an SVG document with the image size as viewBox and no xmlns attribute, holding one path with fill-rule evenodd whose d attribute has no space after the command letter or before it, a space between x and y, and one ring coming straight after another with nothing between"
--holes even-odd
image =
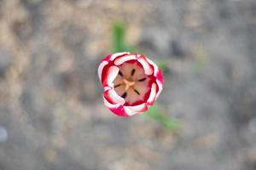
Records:
<instances>
[{"instance_id":1,"label":"whole red-and-white tulip bloom seen from above","mask_svg":"<svg viewBox=\"0 0 256 170\"><path fill-rule=\"evenodd\" d=\"M118 116L147 111L164 83L158 66L143 54L110 54L102 59L98 76L104 88L104 104Z\"/></svg>"}]
</instances>

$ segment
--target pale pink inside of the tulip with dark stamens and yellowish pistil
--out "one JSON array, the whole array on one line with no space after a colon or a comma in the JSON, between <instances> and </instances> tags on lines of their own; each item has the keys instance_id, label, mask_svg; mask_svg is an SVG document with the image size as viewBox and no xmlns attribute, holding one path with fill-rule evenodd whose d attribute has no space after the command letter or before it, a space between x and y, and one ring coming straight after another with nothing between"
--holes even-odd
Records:
<instances>
[{"instance_id":1,"label":"pale pink inside of the tulip with dark stamens and yellowish pistil","mask_svg":"<svg viewBox=\"0 0 256 170\"><path fill-rule=\"evenodd\" d=\"M113 81L114 89L125 99L126 105L143 102L145 94L150 90L150 78L145 75L143 67L134 63L119 65L119 74Z\"/></svg>"}]
</instances>

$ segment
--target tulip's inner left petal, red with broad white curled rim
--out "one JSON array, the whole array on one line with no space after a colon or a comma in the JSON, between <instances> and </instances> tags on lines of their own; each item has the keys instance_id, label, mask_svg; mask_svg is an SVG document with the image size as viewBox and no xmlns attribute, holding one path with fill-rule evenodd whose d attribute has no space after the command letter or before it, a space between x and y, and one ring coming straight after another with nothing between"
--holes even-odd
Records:
<instances>
[{"instance_id":1,"label":"tulip's inner left petal, red with broad white curled rim","mask_svg":"<svg viewBox=\"0 0 256 170\"><path fill-rule=\"evenodd\" d=\"M103 87L111 87L113 88L113 81L115 77L119 74L119 67L113 65L110 66L106 72L105 77L102 77L102 85Z\"/></svg>"}]
</instances>

